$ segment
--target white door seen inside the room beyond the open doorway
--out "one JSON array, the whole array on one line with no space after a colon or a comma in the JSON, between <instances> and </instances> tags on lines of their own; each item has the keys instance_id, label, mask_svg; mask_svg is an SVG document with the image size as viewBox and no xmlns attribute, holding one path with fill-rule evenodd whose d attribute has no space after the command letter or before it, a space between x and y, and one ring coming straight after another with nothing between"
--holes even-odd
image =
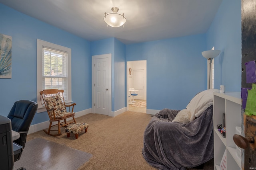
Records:
<instances>
[{"instance_id":1,"label":"white door seen inside the room beyond the open doorway","mask_svg":"<svg viewBox=\"0 0 256 170\"><path fill-rule=\"evenodd\" d=\"M134 99L144 100L144 70L133 70L133 88L139 90Z\"/></svg>"}]
</instances>

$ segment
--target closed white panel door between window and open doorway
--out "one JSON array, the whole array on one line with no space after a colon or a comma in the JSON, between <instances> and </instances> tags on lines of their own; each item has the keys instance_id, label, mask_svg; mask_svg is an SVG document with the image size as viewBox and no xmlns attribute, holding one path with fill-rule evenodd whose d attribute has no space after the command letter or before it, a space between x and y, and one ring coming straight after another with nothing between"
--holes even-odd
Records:
<instances>
[{"instance_id":1,"label":"closed white panel door between window and open doorway","mask_svg":"<svg viewBox=\"0 0 256 170\"><path fill-rule=\"evenodd\" d=\"M109 115L111 111L111 54L92 56L92 110Z\"/></svg>"}]
</instances>

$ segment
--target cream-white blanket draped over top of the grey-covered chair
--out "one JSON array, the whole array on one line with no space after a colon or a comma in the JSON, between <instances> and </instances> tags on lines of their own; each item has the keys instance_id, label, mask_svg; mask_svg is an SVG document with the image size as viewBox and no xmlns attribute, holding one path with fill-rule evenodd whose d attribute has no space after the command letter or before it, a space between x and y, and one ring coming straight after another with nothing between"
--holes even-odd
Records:
<instances>
[{"instance_id":1,"label":"cream-white blanket draped over top of the grey-covered chair","mask_svg":"<svg viewBox=\"0 0 256 170\"><path fill-rule=\"evenodd\" d=\"M186 107L191 113L190 122L199 117L204 110L213 104L213 92L219 91L218 89L204 90L192 98Z\"/></svg>"}]
</instances>

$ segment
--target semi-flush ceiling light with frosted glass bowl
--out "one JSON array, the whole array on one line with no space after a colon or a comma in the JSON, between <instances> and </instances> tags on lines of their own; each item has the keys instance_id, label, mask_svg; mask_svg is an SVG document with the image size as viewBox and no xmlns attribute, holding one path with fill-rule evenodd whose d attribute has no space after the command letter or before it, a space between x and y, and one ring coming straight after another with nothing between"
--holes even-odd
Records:
<instances>
[{"instance_id":1,"label":"semi-flush ceiling light with frosted glass bowl","mask_svg":"<svg viewBox=\"0 0 256 170\"><path fill-rule=\"evenodd\" d=\"M113 7L111 8L111 10L113 12L110 12L108 14L106 14L105 12L105 16L103 17L103 20L111 27L120 27L123 25L124 27L124 23L126 23L126 18L124 17L124 13L123 14L118 14L118 8L117 7Z\"/></svg>"}]
</instances>

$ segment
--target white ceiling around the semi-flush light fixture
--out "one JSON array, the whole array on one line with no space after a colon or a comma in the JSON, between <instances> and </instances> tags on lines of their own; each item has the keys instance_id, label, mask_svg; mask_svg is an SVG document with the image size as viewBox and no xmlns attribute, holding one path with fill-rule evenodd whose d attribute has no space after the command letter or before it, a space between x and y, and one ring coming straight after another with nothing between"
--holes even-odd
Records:
<instances>
[{"instance_id":1,"label":"white ceiling around the semi-flush light fixture","mask_svg":"<svg viewBox=\"0 0 256 170\"><path fill-rule=\"evenodd\" d=\"M33 18L89 41L124 44L206 33L222 0L0 0ZM107 27L104 12L124 13L124 27Z\"/></svg>"}]
</instances>

